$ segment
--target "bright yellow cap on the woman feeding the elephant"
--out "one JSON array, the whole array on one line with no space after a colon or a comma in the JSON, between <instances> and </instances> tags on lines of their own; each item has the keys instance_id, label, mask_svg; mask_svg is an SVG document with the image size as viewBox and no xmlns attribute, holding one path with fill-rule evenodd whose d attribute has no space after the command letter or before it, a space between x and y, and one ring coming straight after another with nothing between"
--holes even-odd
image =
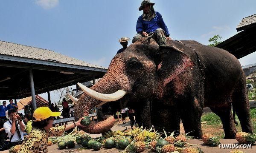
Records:
<instances>
[{"instance_id":1,"label":"bright yellow cap on the woman feeding the elephant","mask_svg":"<svg viewBox=\"0 0 256 153\"><path fill-rule=\"evenodd\" d=\"M35 109L34 114L33 114L33 121L38 122L38 121L47 119L51 116L56 117L56 116L60 116L60 115L61 115L60 112L52 112L50 110L50 108L48 108L48 107L41 107L41 108Z\"/></svg>"}]
</instances>

